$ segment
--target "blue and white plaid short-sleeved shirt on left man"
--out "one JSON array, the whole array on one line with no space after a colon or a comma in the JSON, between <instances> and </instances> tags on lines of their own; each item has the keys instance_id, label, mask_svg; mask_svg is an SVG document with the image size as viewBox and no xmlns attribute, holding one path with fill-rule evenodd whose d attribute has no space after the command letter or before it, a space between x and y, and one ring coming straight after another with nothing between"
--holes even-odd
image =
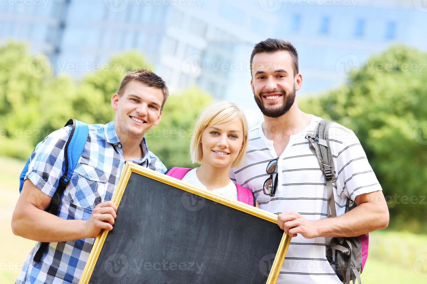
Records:
<instances>
[{"instance_id":1,"label":"blue and white plaid short-sleeved shirt on left man","mask_svg":"<svg viewBox=\"0 0 427 284\"><path fill-rule=\"evenodd\" d=\"M62 175L64 146L70 132L71 126L56 130L31 155L26 178L50 197ZM144 158L131 162L164 173L166 167L149 152L145 138L140 146ZM89 125L88 141L62 196L58 217L88 220L97 204L111 200L125 164L122 148L114 121ZM94 238L50 243L37 263L33 257L40 247L38 242L27 256L16 283L78 283L93 243Z\"/></svg>"}]
</instances>

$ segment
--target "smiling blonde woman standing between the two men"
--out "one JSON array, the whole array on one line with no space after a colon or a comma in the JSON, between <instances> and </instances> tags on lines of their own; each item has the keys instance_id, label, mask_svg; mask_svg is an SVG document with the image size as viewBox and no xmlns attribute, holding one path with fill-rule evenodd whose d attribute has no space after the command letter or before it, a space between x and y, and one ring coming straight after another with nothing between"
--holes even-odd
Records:
<instances>
[{"instance_id":1,"label":"smiling blonde woman standing between the two men","mask_svg":"<svg viewBox=\"0 0 427 284\"><path fill-rule=\"evenodd\" d=\"M217 101L199 115L191 139L191 160L200 166L173 167L166 174L228 200L259 208L252 191L228 177L231 167L242 162L247 144L248 123L243 111L230 101Z\"/></svg>"}]
</instances>

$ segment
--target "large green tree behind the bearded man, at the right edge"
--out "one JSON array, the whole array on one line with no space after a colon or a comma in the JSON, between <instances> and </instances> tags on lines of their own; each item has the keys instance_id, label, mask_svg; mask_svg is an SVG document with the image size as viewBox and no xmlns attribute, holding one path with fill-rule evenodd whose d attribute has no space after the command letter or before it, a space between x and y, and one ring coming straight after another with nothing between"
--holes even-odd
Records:
<instances>
[{"instance_id":1,"label":"large green tree behind the bearded man, at the right edge","mask_svg":"<svg viewBox=\"0 0 427 284\"><path fill-rule=\"evenodd\" d=\"M427 214L426 64L426 53L393 46L345 86L300 102L305 112L354 130L383 188L391 226L415 231L425 231Z\"/></svg>"}]
</instances>

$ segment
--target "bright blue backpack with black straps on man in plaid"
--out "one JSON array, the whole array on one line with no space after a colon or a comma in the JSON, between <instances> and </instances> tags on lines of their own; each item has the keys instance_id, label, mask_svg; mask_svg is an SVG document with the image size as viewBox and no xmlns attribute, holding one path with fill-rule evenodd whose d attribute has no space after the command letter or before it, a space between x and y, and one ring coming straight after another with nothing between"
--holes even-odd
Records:
<instances>
[{"instance_id":1,"label":"bright blue backpack with black straps on man in plaid","mask_svg":"<svg viewBox=\"0 0 427 284\"><path fill-rule=\"evenodd\" d=\"M67 143L65 144L64 163L62 164L62 176L59 179L59 185L56 189L55 194L52 197L52 201L45 210L53 215L58 214L58 206L61 202L61 196L64 194L65 187L67 187L67 184L70 181L71 176L73 175L74 169L76 169L77 162L79 161L79 158L82 155L83 149L85 149L85 144L88 140L89 135L89 127L86 123L83 123L79 120L70 119L65 124L65 126L69 125L72 125L73 127L71 128L70 136L68 137ZM43 143L43 141L38 143L37 146L35 146L34 150L36 150L41 145L41 143ZM25 175L28 172L30 158L28 158L19 176L19 193L22 191ZM40 261L41 256L46 250L48 244L49 243L41 243L41 246L34 255L34 261Z\"/></svg>"}]
</instances>

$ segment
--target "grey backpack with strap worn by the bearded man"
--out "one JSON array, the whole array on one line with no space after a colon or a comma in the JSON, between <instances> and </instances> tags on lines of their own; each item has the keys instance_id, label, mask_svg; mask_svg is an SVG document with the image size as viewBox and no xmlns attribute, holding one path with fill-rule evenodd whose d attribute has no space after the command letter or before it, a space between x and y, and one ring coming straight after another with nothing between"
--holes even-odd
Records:
<instances>
[{"instance_id":1,"label":"grey backpack with strap worn by the bearded man","mask_svg":"<svg viewBox=\"0 0 427 284\"><path fill-rule=\"evenodd\" d=\"M333 122L330 120L321 120L313 134L307 134L306 139L309 141L311 152L317 157L320 165L325 174L326 179L326 190L328 195L327 208L328 218L336 217L335 199L333 197L332 184L336 181L333 169L332 153L330 152L329 144L329 127ZM347 198L345 205L345 212L353 209L357 205ZM332 238L329 246L326 250L326 258L330 265L338 275L339 279L345 283L350 284L353 280L353 284L357 281L359 284L360 273L362 273L363 267L368 257L368 244L369 235L364 234L357 237L350 238Z\"/></svg>"}]
</instances>

